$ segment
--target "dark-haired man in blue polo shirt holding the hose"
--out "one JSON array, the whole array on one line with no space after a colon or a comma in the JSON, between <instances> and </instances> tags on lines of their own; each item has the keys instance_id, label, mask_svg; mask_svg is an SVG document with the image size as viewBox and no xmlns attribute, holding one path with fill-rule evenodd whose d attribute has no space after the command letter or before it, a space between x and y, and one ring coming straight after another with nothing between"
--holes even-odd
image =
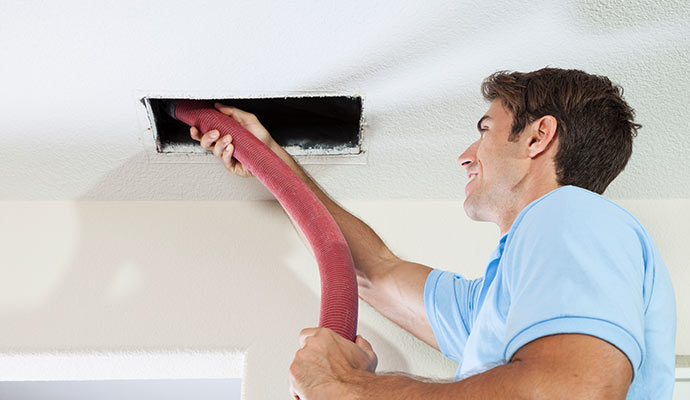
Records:
<instances>
[{"instance_id":1,"label":"dark-haired man in blue polo shirt holding the hose","mask_svg":"<svg viewBox=\"0 0 690 400\"><path fill-rule=\"evenodd\" d=\"M338 222L360 297L459 363L457 381L377 375L369 343L305 329L290 367L309 399L667 399L674 381L675 299L644 227L600 196L623 170L639 125L607 78L545 68L498 72L479 139L458 159L466 213L501 239L476 280L396 257L332 201L255 116L216 105L266 143ZM231 138L192 137L231 171ZM463 378L463 379L461 379Z\"/></svg>"}]
</instances>

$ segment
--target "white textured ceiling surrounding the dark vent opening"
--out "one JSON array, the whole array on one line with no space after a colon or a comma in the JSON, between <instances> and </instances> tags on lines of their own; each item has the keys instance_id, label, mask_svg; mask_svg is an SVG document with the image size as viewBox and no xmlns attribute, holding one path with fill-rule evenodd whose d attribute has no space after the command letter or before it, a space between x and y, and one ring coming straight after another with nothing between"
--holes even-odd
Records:
<instances>
[{"instance_id":1,"label":"white textured ceiling surrounding the dark vent opening","mask_svg":"<svg viewBox=\"0 0 690 400\"><path fill-rule=\"evenodd\" d=\"M690 2L520 3L4 0L0 200L270 198L212 156L160 162L139 99L314 91L364 101L366 164L307 166L336 199L460 199L482 78L546 65L637 110L610 197L690 197Z\"/></svg>"}]
</instances>

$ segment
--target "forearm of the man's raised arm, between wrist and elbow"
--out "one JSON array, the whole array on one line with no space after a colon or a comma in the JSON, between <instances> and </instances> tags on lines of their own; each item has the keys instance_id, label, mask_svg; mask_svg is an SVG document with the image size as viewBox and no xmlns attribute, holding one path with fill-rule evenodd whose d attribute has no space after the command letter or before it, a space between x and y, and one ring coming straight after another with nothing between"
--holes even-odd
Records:
<instances>
[{"instance_id":1,"label":"forearm of the man's raised arm, between wrist and elbow","mask_svg":"<svg viewBox=\"0 0 690 400\"><path fill-rule=\"evenodd\" d=\"M376 267L380 267L383 262L394 257L393 253L390 252L376 232L328 197L282 147L278 144L272 144L271 148L309 186L316 197L321 200L331 213L350 247L358 277L370 279L372 273L375 273ZM290 220L292 221L292 218ZM294 221L292 223L295 225ZM297 225L295 225L295 228L299 231ZM304 237L302 239L304 240Z\"/></svg>"}]
</instances>

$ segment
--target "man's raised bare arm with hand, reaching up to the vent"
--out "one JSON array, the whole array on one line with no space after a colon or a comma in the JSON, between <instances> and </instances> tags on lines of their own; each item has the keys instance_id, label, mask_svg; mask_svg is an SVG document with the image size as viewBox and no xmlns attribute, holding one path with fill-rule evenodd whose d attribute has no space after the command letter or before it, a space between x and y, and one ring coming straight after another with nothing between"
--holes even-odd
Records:
<instances>
[{"instance_id":1,"label":"man's raised bare arm with hand, reaching up to the vent","mask_svg":"<svg viewBox=\"0 0 690 400\"><path fill-rule=\"evenodd\" d=\"M292 156L273 140L256 116L235 107L216 104L216 108L239 122L273 150L328 209L350 247L357 273L359 296L362 300L403 329L438 349L424 308L424 284L431 268L395 256L368 225L326 195ZM232 139L227 142L217 140L217 136L212 137L212 132L206 132L202 136L192 128L191 136L200 141L204 149L212 150L228 170L240 176L251 176L246 168L232 158ZM292 221L292 218L290 220ZM292 223L310 248L297 224L294 221Z\"/></svg>"}]
</instances>

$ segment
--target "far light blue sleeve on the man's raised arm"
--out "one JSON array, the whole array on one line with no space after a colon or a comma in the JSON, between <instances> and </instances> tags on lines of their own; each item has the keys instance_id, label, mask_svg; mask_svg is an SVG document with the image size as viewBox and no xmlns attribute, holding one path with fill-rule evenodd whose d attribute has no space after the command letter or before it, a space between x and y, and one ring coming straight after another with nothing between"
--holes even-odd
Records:
<instances>
[{"instance_id":1,"label":"far light blue sleeve on the man's raised arm","mask_svg":"<svg viewBox=\"0 0 690 400\"><path fill-rule=\"evenodd\" d=\"M457 363L462 362L483 281L435 269L424 286L424 307L436 342L443 355Z\"/></svg>"}]
</instances>

